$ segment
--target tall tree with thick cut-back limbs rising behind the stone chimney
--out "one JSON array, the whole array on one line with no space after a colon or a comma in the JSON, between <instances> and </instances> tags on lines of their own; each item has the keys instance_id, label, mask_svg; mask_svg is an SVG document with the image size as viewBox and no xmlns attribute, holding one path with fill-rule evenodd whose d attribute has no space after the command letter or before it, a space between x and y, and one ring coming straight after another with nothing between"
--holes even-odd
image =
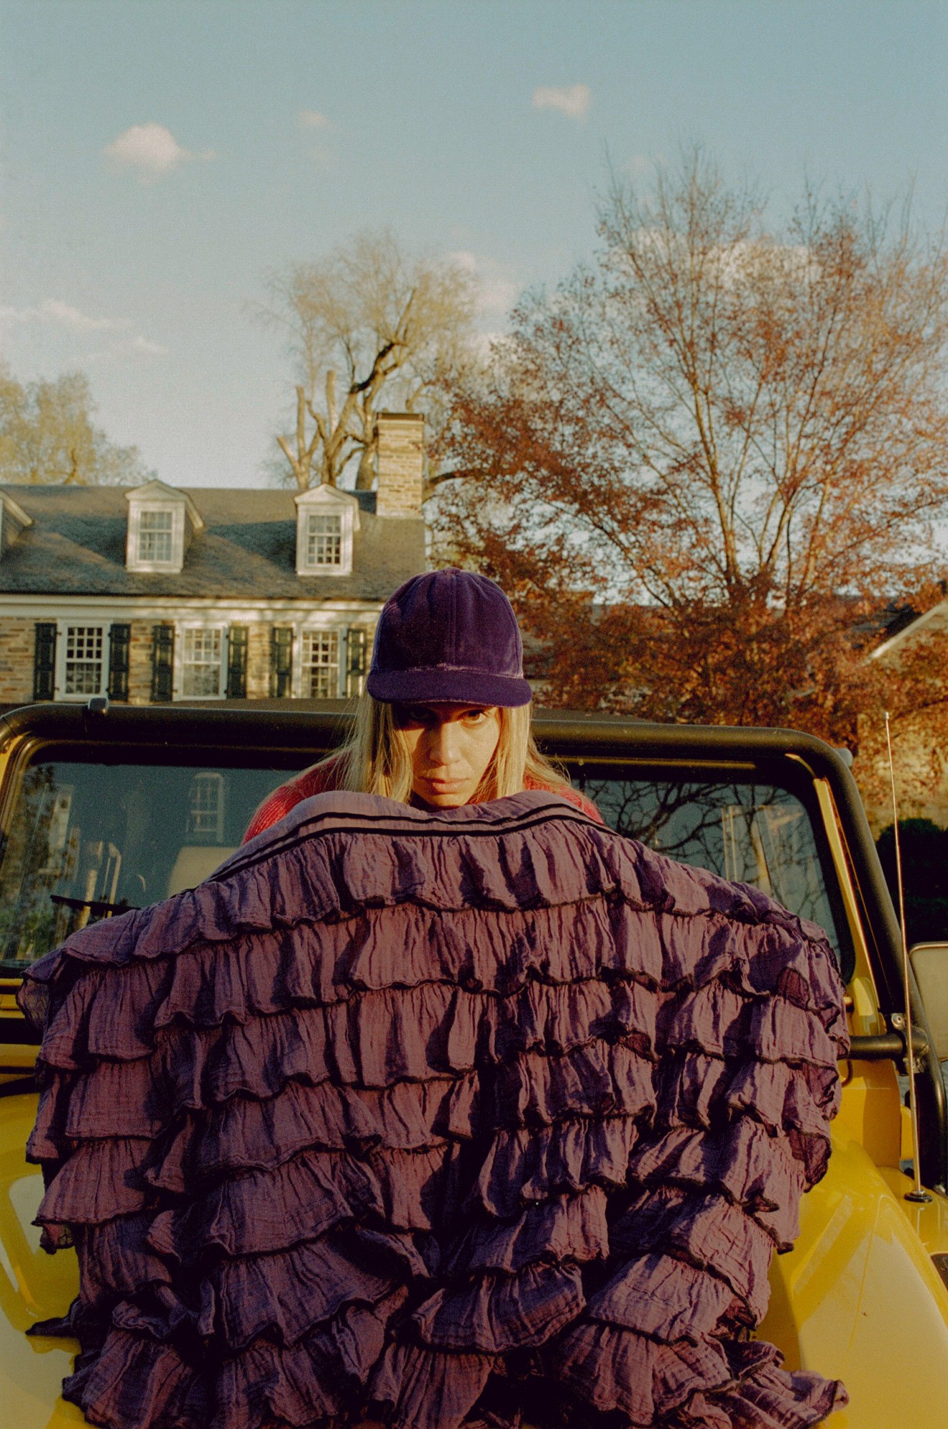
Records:
<instances>
[{"instance_id":1,"label":"tall tree with thick cut-back limbs rising behind the stone chimney","mask_svg":"<svg viewBox=\"0 0 948 1429\"><path fill-rule=\"evenodd\" d=\"M361 233L328 257L267 280L264 320L287 333L296 366L294 430L277 436L300 490L336 486L358 457L374 477L380 406L423 410L440 427L448 374L468 359L475 292L461 267L407 259L394 236Z\"/></svg>"}]
</instances>

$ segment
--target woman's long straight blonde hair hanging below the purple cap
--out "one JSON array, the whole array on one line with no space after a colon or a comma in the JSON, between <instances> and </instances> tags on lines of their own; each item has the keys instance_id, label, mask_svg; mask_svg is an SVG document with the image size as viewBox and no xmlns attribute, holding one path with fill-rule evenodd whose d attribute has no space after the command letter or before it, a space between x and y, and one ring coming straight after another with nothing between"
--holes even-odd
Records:
<instances>
[{"instance_id":1,"label":"woman's long straight blonde hair hanging below the purple cap","mask_svg":"<svg viewBox=\"0 0 948 1429\"><path fill-rule=\"evenodd\" d=\"M537 749L530 727L531 714L530 704L515 709L500 706L500 739L473 803L523 793L525 780L543 789L570 787L565 775ZM323 769L336 760L341 762L337 787L353 793L384 795L400 803L411 799L411 756L398 727L394 704L361 694L350 739L311 767Z\"/></svg>"}]
</instances>

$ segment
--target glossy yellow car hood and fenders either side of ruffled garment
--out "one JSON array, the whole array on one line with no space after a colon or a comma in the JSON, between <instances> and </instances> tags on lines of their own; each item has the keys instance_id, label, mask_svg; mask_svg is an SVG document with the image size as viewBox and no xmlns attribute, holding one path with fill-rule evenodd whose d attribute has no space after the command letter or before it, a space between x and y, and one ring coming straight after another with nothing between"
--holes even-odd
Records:
<instances>
[{"instance_id":1,"label":"glossy yellow car hood and fenders either side of ruffled garment","mask_svg":"<svg viewBox=\"0 0 948 1429\"><path fill-rule=\"evenodd\" d=\"M60 1386L74 1340L31 1338L79 1289L76 1256L40 1249L31 1225L43 1193L24 1146L36 1096L0 1099L0 1405L17 1429L84 1423ZM774 1258L771 1308L760 1335L787 1368L838 1376L849 1406L830 1429L944 1429L948 1423L948 1289L927 1243L948 1243L948 1200L907 1213L911 1182L881 1172L837 1135L830 1170L801 1205L792 1252Z\"/></svg>"}]
</instances>

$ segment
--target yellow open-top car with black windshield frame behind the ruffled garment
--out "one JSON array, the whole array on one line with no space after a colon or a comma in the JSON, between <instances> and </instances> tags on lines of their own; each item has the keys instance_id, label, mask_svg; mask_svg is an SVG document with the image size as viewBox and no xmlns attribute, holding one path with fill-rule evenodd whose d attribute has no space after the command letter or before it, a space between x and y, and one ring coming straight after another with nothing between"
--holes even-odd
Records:
<instances>
[{"instance_id":1,"label":"yellow open-top car with black windshield frame behind the ruffled garment","mask_svg":"<svg viewBox=\"0 0 948 1429\"><path fill-rule=\"evenodd\" d=\"M0 720L0 1425L81 1423L60 1399L74 1342L27 1338L77 1289L47 1256L24 1159L36 1046L16 1007L23 969L70 932L204 879L257 803L326 753L340 709L40 704ZM931 1029L948 1027L948 945L915 950L918 1172L904 1105L899 933L844 757L787 730L538 720L605 820L687 863L762 889L827 929L848 989L852 1055L825 1179L795 1249L774 1259L760 1335L788 1368L842 1379L832 1429L948 1425L948 1109ZM944 1006L942 1006L944 1002Z\"/></svg>"}]
</instances>

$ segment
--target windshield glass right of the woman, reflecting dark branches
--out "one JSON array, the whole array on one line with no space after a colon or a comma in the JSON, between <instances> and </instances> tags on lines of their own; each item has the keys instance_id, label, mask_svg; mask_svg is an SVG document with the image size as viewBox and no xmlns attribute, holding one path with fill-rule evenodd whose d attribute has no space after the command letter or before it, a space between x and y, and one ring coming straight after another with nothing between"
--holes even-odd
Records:
<instances>
[{"instance_id":1,"label":"windshield glass right of the woman, reflecting dark branches","mask_svg":"<svg viewBox=\"0 0 948 1429\"><path fill-rule=\"evenodd\" d=\"M670 859L751 883L822 927L839 956L810 815L774 785L587 779L608 825Z\"/></svg>"}]
</instances>

